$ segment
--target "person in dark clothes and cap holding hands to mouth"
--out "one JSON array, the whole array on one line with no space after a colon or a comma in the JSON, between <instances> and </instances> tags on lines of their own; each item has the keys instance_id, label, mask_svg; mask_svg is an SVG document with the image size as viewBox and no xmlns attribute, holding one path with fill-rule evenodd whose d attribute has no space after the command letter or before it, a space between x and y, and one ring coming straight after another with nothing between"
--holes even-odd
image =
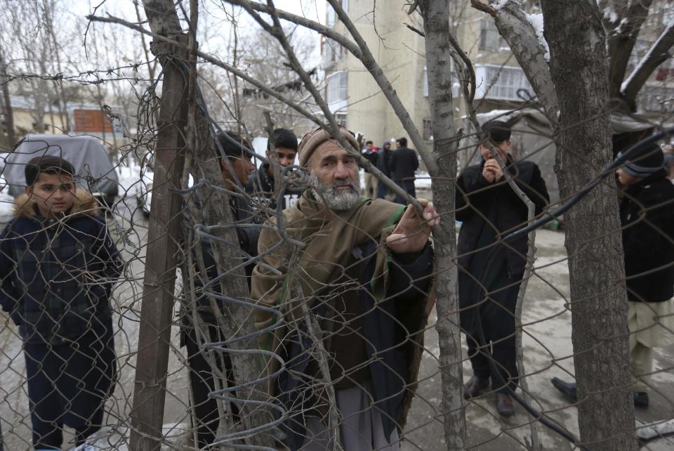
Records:
<instances>
[{"instance_id":1,"label":"person in dark clothes and cap holding hands to mouth","mask_svg":"<svg viewBox=\"0 0 674 451\"><path fill-rule=\"evenodd\" d=\"M505 122L488 122L483 130L540 214L550 198L538 166L513 159L510 126ZM466 398L479 395L491 379L496 411L509 417L515 413L509 395L517 388L518 377L515 304L527 263L527 237L506 245L499 243L499 237L527 223L527 206L510 188L485 143L480 144L480 152L482 162L465 168L456 182L456 219L463 221L458 235L458 297L473 367L464 393Z\"/></svg>"}]
</instances>

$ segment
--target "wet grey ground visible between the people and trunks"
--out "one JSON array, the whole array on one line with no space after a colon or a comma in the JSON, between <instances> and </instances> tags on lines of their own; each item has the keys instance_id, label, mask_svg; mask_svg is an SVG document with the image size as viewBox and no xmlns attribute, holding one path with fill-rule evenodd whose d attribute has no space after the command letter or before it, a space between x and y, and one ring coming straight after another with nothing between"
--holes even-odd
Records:
<instances>
[{"instance_id":1,"label":"wet grey ground visible between the people and trunks","mask_svg":"<svg viewBox=\"0 0 674 451\"><path fill-rule=\"evenodd\" d=\"M143 257L145 233L147 229L139 222L131 235L131 243L126 247L126 257L131 258L131 265L126 274L127 281L121 283L114 293L114 305L117 311L116 320L119 332L116 335L117 353L121 379L110 400L110 414L107 423L125 435L124 426L131 411L133 400L133 378L135 375L135 352L138 337L138 318L140 315L138 302L143 280ZM121 222L122 228L128 223ZM524 357L528 375L529 390L534 398L532 405L557 421L564 428L577 436L576 407L568 403L550 385L550 378L571 379L573 360L571 351L571 315L565 307L565 298L569 293L567 261L563 247L564 235L560 232L541 230L536 240L536 275L529 283L524 303ZM137 252L134 249L138 249ZM4 318L6 320L6 318ZM440 414L440 373L438 357L440 348L437 333L432 325L435 323L435 312L430 318L430 326L425 335L425 346L428 352L423 356L418 396L414 400L409 414L402 449L408 450L442 450L444 448L444 430ZM543 321L545 319L545 321ZM0 374L2 385L0 393L0 418L4 436L5 450L29 449L29 425L27 414L28 402L24 384L24 361L21 343L13 325L0 331ZM172 330L173 349L169 362L167 379L165 423L189 422L187 412L187 377L183 365L183 350L178 346L178 330ZM464 346L465 355L465 346ZM671 387L674 374L671 370L674 363L674 348L656 352L656 368L661 370L652 377L654 391L651 393L649 409L637 409L637 418L648 423L651 421L671 419L674 417L674 396ZM470 377L470 364L463 362L464 379ZM670 401L665 396L670 397ZM472 400L465 407L468 427L468 447L475 450L524 450L524 440L531 432L530 420L522 407L516 407L516 414L510 419L498 417L494 408L494 394L486 394ZM557 436L545 426L536 426L538 436L544 449L571 450L573 447L564 438ZM110 444L110 449L119 449ZM648 450L674 449L674 438L663 438L645 445Z\"/></svg>"}]
</instances>

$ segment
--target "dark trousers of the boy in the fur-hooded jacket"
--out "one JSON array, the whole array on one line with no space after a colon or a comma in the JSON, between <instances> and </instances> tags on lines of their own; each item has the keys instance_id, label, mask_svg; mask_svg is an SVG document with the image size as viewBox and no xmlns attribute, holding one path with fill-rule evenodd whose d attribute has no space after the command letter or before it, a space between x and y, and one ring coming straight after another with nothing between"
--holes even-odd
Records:
<instances>
[{"instance_id":1,"label":"dark trousers of the boy in the fur-hooded jacket","mask_svg":"<svg viewBox=\"0 0 674 451\"><path fill-rule=\"evenodd\" d=\"M59 449L64 424L81 445L102 426L117 377L112 319L74 340L24 348L33 447Z\"/></svg>"}]
</instances>

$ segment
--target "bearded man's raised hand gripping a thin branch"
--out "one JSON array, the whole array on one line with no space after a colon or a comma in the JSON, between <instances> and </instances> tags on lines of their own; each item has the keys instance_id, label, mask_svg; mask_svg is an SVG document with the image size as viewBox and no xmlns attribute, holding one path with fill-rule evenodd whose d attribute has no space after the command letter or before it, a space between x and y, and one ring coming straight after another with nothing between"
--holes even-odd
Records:
<instances>
[{"instance_id":1,"label":"bearded man's raised hand gripping a thin branch","mask_svg":"<svg viewBox=\"0 0 674 451\"><path fill-rule=\"evenodd\" d=\"M423 207L423 218L412 205L407 206L393 233L386 238L386 245L396 254L418 252L428 242L430 228L440 224L440 216L427 199L418 199Z\"/></svg>"}]
</instances>

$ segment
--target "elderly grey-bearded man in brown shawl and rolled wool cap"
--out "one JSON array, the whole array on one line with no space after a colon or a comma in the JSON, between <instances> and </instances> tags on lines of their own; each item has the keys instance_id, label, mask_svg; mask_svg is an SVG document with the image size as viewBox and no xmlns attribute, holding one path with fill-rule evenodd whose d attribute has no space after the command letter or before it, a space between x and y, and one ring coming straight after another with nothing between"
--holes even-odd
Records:
<instances>
[{"instance_id":1,"label":"elderly grey-bearded man in brown shawl and rolled wool cap","mask_svg":"<svg viewBox=\"0 0 674 451\"><path fill-rule=\"evenodd\" d=\"M350 131L339 131L358 148ZM258 251L270 254L253 270L251 291L282 315L258 310L256 325L283 322L260 337L260 347L286 362L270 381L270 394L289 414L285 444L331 449L339 433L345 451L398 450L422 351L432 277L428 237L440 217L426 200L422 219L413 207L361 198L356 157L323 129L304 136L299 155L311 188L282 219L287 235L304 246L279 246L282 238L263 230ZM270 374L277 367L276 359L267 362ZM330 385L336 406L328 401ZM329 426L331 407L338 428Z\"/></svg>"}]
</instances>

